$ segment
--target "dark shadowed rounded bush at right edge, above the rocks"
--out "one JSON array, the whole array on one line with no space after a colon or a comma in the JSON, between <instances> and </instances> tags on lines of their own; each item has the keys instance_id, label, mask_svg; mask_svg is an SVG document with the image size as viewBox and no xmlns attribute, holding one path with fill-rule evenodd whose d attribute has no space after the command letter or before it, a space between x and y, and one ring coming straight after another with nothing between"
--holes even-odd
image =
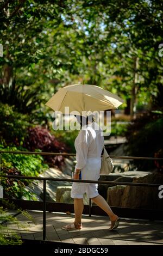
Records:
<instances>
[{"instance_id":1,"label":"dark shadowed rounded bush at right edge, above the rocks","mask_svg":"<svg viewBox=\"0 0 163 256\"><path fill-rule=\"evenodd\" d=\"M134 120L128 127L128 151L130 155L154 157L162 149L163 118L160 114L147 112ZM142 170L154 168L154 161L136 160Z\"/></svg>"}]
</instances>

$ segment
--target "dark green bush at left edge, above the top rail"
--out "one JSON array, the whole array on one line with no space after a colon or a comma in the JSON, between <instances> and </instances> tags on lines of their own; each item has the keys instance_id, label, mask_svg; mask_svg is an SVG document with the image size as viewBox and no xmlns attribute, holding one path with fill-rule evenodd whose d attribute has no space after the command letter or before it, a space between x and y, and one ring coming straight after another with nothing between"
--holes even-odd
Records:
<instances>
[{"instance_id":1,"label":"dark green bush at left edge, above the top rail","mask_svg":"<svg viewBox=\"0 0 163 256\"><path fill-rule=\"evenodd\" d=\"M21 145L27 127L31 124L27 115L18 113L13 108L0 102L0 141L4 144Z\"/></svg>"}]
</instances>

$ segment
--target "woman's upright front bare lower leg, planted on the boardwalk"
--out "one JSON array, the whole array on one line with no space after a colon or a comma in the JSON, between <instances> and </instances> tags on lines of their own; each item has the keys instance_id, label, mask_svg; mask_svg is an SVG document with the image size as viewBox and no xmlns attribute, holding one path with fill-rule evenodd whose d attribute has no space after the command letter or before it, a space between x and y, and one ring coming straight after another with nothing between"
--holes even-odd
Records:
<instances>
[{"instance_id":1,"label":"woman's upright front bare lower leg, planted on the boardwalk","mask_svg":"<svg viewBox=\"0 0 163 256\"><path fill-rule=\"evenodd\" d=\"M83 198L82 199L75 198L74 199L74 214L75 214L74 224L75 225L82 224L83 209L84 209Z\"/></svg>"}]
</instances>

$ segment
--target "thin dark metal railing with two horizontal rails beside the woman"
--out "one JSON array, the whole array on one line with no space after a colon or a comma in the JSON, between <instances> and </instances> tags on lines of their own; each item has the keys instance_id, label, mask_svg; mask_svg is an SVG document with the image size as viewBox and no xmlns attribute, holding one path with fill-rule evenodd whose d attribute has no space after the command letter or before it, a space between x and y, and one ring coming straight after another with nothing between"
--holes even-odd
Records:
<instances>
[{"instance_id":1,"label":"thin dark metal railing with two horizontal rails beside the woman","mask_svg":"<svg viewBox=\"0 0 163 256\"><path fill-rule=\"evenodd\" d=\"M0 154L35 154L35 155L62 155L62 156L76 156L76 154L68 153L46 153L46 152L30 152L30 151L5 151L0 150ZM158 157L134 157L134 156L111 156L113 159L141 159L141 160L163 160ZM143 187L159 187L161 184L144 184L135 182L115 182L115 181L102 181L102 180L74 180L74 179L60 179L60 178L45 178L21 175L0 175L3 179L28 179L28 180L42 180L43 181L43 241L46 240L46 181L68 181L80 183L93 183L93 184L108 184L108 185L126 185L126 186L143 186ZM89 202L89 216L91 216L91 199Z\"/></svg>"}]
</instances>

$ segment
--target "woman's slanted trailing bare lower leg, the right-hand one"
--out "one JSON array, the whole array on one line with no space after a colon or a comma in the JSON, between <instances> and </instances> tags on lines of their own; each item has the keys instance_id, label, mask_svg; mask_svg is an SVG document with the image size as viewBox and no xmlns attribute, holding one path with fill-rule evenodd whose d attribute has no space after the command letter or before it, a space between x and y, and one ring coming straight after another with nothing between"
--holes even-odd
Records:
<instances>
[{"instance_id":1,"label":"woman's slanted trailing bare lower leg, the right-hand one","mask_svg":"<svg viewBox=\"0 0 163 256\"><path fill-rule=\"evenodd\" d=\"M106 202L106 200L102 196L98 195L97 197L91 198L91 200L95 204L97 204L102 210L104 210L106 214L108 214L111 221L116 221L118 216L115 215L114 212L112 212L109 204Z\"/></svg>"}]
</instances>

